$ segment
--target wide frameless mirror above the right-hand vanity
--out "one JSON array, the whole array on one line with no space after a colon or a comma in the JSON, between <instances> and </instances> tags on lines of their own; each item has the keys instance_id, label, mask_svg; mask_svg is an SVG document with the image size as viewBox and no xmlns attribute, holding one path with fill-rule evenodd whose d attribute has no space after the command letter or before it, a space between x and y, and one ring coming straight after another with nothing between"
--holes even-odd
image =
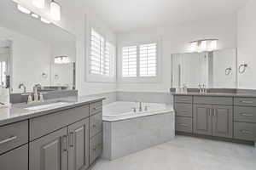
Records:
<instances>
[{"instance_id":1,"label":"wide frameless mirror above the right-hand vanity","mask_svg":"<svg viewBox=\"0 0 256 170\"><path fill-rule=\"evenodd\" d=\"M172 54L172 88L236 88L236 48Z\"/></svg>"}]
</instances>

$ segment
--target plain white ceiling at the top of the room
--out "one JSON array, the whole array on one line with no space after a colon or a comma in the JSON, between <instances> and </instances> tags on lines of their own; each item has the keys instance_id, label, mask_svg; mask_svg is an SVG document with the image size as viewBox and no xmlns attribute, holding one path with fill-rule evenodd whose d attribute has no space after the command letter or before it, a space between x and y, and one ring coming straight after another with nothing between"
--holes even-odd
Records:
<instances>
[{"instance_id":1,"label":"plain white ceiling at the top of the room","mask_svg":"<svg viewBox=\"0 0 256 170\"><path fill-rule=\"evenodd\" d=\"M86 0L114 31L217 19L235 14L247 0Z\"/></svg>"}]
</instances>

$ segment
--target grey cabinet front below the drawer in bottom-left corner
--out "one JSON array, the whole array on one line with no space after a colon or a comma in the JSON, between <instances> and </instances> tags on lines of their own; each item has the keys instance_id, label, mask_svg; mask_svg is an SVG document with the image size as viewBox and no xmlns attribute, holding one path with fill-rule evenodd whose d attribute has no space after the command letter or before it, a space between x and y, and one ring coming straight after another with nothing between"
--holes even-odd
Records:
<instances>
[{"instance_id":1,"label":"grey cabinet front below the drawer in bottom-left corner","mask_svg":"<svg viewBox=\"0 0 256 170\"><path fill-rule=\"evenodd\" d=\"M27 170L28 144L0 156L1 170Z\"/></svg>"}]
</instances>

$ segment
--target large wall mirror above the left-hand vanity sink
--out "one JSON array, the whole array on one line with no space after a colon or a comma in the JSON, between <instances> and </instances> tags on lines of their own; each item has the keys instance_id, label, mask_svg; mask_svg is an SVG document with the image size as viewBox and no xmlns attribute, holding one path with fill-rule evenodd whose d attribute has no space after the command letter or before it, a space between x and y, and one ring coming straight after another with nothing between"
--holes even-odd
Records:
<instances>
[{"instance_id":1,"label":"large wall mirror above the left-hand vanity sink","mask_svg":"<svg viewBox=\"0 0 256 170\"><path fill-rule=\"evenodd\" d=\"M33 17L34 16L34 17ZM11 93L75 89L75 37L10 0L0 3L0 81Z\"/></svg>"}]
</instances>

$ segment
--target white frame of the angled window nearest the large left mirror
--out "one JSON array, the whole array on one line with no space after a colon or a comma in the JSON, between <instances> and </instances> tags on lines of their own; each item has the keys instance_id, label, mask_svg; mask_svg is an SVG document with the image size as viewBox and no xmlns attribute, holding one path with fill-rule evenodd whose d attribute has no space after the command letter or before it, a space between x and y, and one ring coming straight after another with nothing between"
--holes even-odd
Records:
<instances>
[{"instance_id":1,"label":"white frame of the angled window nearest the large left mirror","mask_svg":"<svg viewBox=\"0 0 256 170\"><path fill-rule=\"evenodd\" d=\"M100 75L100 74L94 74L94 73L90 73L90 49L91 49L91 41L90 41L90 37L91 37L91 31L96 31L96 33L98 33L101 37L104 38L104 51L103 54L105 55L106 53L106 45L107 42L110 43L111 45L113 45L113 68L111 68L110 66L110 71L113 70L113 75L111 76L107 76L107 75ZM87 35L89 35L86 40L87 40L87 45L85 47L87 47L86 50L86 76L85 76L85 81L86 82L116 82L116 59L117 59L117 53L116 53L116 49L117 49L117 45L115 42L112 42L110 40L110 38L108 38L106 35L102 34L101 31L99 31L99 29L97 29L96 27L92 27L90 26L90 28L87 31ZM111 59L110 59L111 60Z\"/></svg>"}]
</instances>

